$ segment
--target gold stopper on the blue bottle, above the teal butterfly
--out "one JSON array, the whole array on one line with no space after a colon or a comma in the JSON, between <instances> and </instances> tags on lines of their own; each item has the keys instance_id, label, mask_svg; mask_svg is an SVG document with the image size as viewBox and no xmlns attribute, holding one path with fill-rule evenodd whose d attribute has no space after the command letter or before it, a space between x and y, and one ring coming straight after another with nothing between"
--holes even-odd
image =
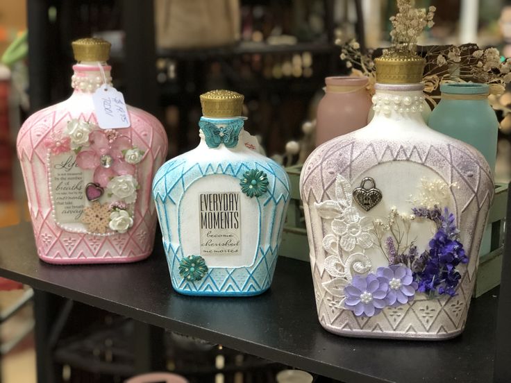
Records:
<instances>
[{"instance_id":1,"label":"gold stopper on the blue bottle, above the teal butterfly","mask_svg":"<svg viewBox=\"0 0 511 383\"><path fill-rule=\"evenodd\" d=\"M221 118L242 115L243 94L231 90L212 90L201 94L204 117Z\"/></svg>"}]
</instances>

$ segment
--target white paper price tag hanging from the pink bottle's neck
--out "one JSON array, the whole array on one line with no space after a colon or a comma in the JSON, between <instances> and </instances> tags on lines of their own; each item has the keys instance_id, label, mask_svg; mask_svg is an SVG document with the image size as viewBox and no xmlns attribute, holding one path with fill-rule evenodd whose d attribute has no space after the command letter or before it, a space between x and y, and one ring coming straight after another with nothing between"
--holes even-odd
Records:
<instances>
[{"instance_id":1,"label":"white paper price tag hanging from the pink bottle's neck","mask_svg":"<svg viewBox=\"0 0 511 383\"><path fill-rule=\"evenodd\" d=\"M101 129L129 128L130 117L126 110L124 96L121 92L117 92L115 87L101 85L92 94L92 101Z\"/></svg>"}]
</instances>

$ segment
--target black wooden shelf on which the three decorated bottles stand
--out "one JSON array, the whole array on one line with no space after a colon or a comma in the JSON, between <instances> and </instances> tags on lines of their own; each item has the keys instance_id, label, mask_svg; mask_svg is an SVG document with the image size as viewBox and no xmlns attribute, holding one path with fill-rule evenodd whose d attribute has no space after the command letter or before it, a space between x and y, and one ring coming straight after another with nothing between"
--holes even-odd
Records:
<instances>
[{"instance_id":1,"label":"black wooden shelf on which the three decorated bottles stand","mask_svg":"<svg viewBox=\"0 0 511 383\"><path fill-rule=\"evenodd\" d=\"M160 242L135 264L41 262L29 223L0 229L0 275L212 343L351 382L490 382L497 289L473 300L467 329L449 341L350 339L317 321L310 266L281 257L271 289L252 298L174 292Z\"/></svg>"}]
</instances>

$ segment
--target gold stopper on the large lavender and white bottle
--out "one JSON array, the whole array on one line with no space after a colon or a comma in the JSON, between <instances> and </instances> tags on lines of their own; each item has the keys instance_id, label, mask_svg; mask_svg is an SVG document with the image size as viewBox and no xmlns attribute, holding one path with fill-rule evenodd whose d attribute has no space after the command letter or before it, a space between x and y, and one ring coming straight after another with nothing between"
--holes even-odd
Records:
<instances>
[{"instance_id":1,"label":"gold stopper on the large lavender and white bottle","mask_svg":"<svg viewBox=\"0 0 511 383\"><path fill-rule=\"evenodd\" d=\"M426 60L415 53L392 52L374 60L376 83L410 84L420 83Z\"/></svg>"}]
</instances>

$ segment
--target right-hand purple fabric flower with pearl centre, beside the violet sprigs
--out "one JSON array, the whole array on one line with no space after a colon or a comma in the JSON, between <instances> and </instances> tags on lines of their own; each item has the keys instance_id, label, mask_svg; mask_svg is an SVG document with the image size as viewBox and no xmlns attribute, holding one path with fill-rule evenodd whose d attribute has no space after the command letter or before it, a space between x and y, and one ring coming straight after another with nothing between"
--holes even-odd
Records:
<instances>
[{"instance_id":1,"label":"right-hand purple fabric flower with pearl centre, beside the violet sprigs","mask_svg":"<svg viewBox=\"0 0 511 383\"><path fill-rule=\"evenodd\" d=\"M412 271L408 267L402 264L378 267L376 275L380 281L384 280L389 286L385 297L387 305L404 305L413 300L418 284L414 282Z\"/></svg>"}]
</instances>

